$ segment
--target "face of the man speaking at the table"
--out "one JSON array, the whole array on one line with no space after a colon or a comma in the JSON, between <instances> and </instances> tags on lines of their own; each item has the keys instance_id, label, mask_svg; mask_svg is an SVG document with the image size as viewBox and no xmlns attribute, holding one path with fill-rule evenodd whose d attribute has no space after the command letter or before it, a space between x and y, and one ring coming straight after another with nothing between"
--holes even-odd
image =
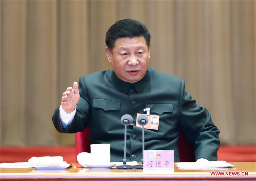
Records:
<instances>
[{"instance_id":1,"label":"face of the man speaking at the table","mask_svg":"<svg viewBox=\"0 0 256 181\"><path fill-rule=\"evenodd\" d=\"M112 52L106 47L106 56L119 79L135 83L146 74L150 49L143 36L118 38Z\"/></svg>"}]
</instances>

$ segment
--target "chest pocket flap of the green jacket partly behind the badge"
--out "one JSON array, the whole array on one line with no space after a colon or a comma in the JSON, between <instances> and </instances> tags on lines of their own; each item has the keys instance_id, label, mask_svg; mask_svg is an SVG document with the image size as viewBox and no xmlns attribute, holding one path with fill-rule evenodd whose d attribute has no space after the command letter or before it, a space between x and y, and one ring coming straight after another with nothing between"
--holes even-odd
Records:
<instances>
[{"instance_id":1,"label":"chest pocket flap of the green jacket partly behind the badge","mask_svg":"<svg viewBox=\"0 0 256 181\"><path fill-rule=\"evenodd\" d=\"M156 113L162 115L165 112L173 112L173 104L170 103L155 103L146 104L146 108L150 108L150 113Z\"/></svg>"}]
</instances>

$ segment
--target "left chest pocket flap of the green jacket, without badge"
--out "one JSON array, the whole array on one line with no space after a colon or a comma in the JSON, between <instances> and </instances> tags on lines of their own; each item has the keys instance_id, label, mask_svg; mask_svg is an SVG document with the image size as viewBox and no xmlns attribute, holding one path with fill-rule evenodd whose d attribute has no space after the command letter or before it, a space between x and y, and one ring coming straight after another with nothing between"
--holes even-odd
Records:
<instances>
[{"instance_id":1,"label":"left chest pocket flap of the green jacket, without badge","mask_svg":"<svg viewBox=\"0 0 256 181\"><path fill-rule=\"evenodd\" d=\"M93 99L93 107L101 108L104 111L109 111L109 110L119 111L120 106L121 106L121 103L119 101L112 101L112 100L99 99L99 98Z\"/></svg>"}]
</instances>

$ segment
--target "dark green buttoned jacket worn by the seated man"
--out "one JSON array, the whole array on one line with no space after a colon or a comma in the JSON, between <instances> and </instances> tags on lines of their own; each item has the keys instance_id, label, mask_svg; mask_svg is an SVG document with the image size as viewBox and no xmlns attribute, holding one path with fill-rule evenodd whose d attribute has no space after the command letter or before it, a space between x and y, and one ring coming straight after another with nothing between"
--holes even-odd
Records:
<instances>
[{"instance_id":1,"label":"dark green buttoned jacket worn by the seated man","mask_svg":"<svg viewBox=\"0 0 256 181\"><path fill-rule=\"evenodd\" d=\"M209 111L184 89L180 78L152 68L133 84L119 79L112 69L95 72L79 79L80 100L69 128L61 128L59 108L55 109L53 124L62 133L76 133L88 126L91 142L110 143L111 162L121 162L124 126L120 119L130 114L133 124L127 126L127 161L141 162L142 128L135 126L136 116L150 108L150 114L159 115L160 121L158 130L145 130L145 150L174 150L174 161L179 162L177 141L181 127L194 147L196 160L217 160L219 130Z\"/></svg>"}]
</instances>

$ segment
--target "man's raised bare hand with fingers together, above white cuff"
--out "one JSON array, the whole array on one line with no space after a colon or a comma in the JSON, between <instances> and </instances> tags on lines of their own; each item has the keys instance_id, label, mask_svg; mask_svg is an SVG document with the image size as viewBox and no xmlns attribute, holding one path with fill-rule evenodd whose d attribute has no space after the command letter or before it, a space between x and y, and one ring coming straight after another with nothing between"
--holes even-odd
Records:
<instances>
[{"instance_id":1,"label":"man's raised bare hand with fingers together, above white cuff","mask_svg":"<svg viewBox=\"0 0 256 181\"><path fill-rule=\"evenodd\" d=\"M80 94L78 90L77 82L74 82L73 88L68 87L66 91L63 93L61 99L61 105L65 112L70 113L75 110L76 104L80 99Z\"/></svg>"}]
</instances>

